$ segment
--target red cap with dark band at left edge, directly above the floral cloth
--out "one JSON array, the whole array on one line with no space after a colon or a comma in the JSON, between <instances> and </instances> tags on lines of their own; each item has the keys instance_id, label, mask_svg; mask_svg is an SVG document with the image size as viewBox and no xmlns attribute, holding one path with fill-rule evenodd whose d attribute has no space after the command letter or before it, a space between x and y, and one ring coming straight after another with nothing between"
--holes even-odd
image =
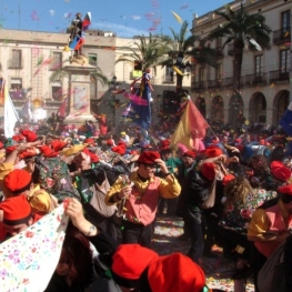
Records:
<instances>
[{"instance_id":1,"label":"red cap with dark band at left edge, directly above the floral cloth","mask_svg":"<svg viewBox=\"0 0 292 292\"><path fill-rule=\"evenodd\" d=\"M7 225L26 223L31 218L31 207L23 194L6 199L0 203L0 210L3 210L3 223Z\"/></svg>"}]
</instances>

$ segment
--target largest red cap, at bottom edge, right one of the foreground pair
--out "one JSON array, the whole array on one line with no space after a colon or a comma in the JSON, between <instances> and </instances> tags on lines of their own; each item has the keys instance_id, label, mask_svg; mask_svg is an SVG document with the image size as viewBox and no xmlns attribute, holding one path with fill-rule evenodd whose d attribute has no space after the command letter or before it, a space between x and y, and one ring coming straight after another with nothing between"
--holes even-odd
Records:
<instances>
[{"instance_id":1,"label":"largest red cap, at bottom edge, right one of the foreground pair","mask_svg":"<svg viewBox=\"0 0 292 292\"><path fill-rule=\"evenodd\" d=\"M152 292L200 292L205 285L205 275L190 258L173 253L149 264L148 282Z\"/></svg>"}]
</instances>

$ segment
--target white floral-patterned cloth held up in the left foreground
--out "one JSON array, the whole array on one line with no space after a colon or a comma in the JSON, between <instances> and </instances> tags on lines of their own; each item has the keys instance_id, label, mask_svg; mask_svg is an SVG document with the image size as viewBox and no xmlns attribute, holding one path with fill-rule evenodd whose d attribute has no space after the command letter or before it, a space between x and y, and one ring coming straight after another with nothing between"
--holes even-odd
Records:
<instances>
[{"instance_id":1,"label":"white floral-patterned cloth held up in the left foreground","mask_svg":"<svg viewBox=\"0 0 292 292\"><path fill-rule=\"evenodd\" d=\"M63 204L0 244L0 291L43 292L59 262L69 218Z\"/></svg>"}]
</instances>

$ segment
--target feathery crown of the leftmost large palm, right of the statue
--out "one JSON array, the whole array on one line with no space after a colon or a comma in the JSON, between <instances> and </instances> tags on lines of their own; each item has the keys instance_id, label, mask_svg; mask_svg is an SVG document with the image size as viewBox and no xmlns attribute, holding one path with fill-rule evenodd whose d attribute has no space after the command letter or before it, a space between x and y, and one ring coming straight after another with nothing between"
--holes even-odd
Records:
<instances>
[{"instance_id":1,"label":"feathery crown of the leftmost large palm, right of the statue","mask_svg":"<svg viewBox=\"0 0 292 292\"><path fill-rule=\"evenodd\" d=\"M152 36L149 33L149 37L138 36L135 37L138 41L134 41L133 48L123 48L131 51L131 56L121 56L115 63L118 62L137 62L141 66L142 72L145 69L159 64L165 53L168 52L168 46L163 41L163 37Z\"/></svg>"}]
</instances>

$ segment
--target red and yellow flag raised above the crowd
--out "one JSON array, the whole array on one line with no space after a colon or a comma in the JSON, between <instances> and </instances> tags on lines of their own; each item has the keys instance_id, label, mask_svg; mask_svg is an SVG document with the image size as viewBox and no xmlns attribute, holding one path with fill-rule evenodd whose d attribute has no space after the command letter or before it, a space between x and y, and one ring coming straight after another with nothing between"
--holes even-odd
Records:
<instances>
[{"instance_id":1,"label":"red and yellow flag raised above the crowd","mask_svg":"<svg viewBox=\"0 0 292 292\"><path fill-rule=\"evenodd\" d=\"M208 128L209 124L201 112L189 100L181 120L171 137L170 145L174 147L181 143L188 147L188 149L197 149L198 141L205 137L205 129Z\"/></svg>"}]
</instances>

